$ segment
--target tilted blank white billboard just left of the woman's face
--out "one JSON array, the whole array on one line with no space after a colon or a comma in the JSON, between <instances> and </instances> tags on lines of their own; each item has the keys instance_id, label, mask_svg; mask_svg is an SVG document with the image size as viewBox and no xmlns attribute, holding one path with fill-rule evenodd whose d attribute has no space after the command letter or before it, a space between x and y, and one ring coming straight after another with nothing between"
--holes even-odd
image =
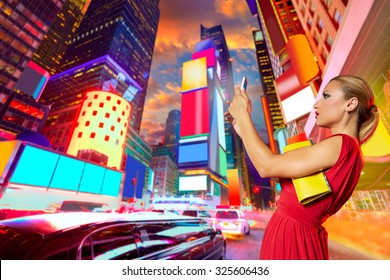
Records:
<instances>
[{"instance_id":1,"label":"tilted blank white billboard just left of the woman's face","mask_svg":"<svg viewBox=\"0 0 390 280\"><path fill-rule=\"evenodd\" d=\"M286 98L282 101L284 122L289 123L310 113L313 109L314 102L314 92L310 86Z\"/></svg>"}]
</instances>

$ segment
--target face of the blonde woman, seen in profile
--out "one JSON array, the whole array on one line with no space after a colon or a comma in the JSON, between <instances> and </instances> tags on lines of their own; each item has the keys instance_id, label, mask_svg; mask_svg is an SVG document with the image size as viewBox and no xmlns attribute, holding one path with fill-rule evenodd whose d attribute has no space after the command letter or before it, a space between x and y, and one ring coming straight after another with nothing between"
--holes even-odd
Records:
<instances>
[{"instance_id":1,"label":"face of the blonde woman, seen in profile","mask_svg":"<svg viewBox=\"0 0 390 280\"><path fill-rule=\"evenodd\" d=\"M339 82L331 81L324 89L322 97L314 104L317 125L331 128L342 119L345 114L347 100L341 91Z\"/></svg>"}]
</instances>

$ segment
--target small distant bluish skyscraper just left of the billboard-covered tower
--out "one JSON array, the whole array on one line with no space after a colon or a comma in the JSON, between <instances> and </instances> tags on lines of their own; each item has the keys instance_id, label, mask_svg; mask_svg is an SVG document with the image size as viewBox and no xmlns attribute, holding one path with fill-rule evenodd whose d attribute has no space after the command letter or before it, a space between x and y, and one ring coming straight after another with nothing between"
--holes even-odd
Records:
<instances>
[{"instance_id":1,"label":"small distant bluish skyscraper just left of the billboard-covered tower","mask_svg":"<svg viewBox=\"0 0 390 280\"><path fill-rule=\"evenodd\" d=\"M180 111L172 110L168 114L165 124L164 145L172 155L173 161L177 164L180 139Z\"/></svg>"}]
</instances>

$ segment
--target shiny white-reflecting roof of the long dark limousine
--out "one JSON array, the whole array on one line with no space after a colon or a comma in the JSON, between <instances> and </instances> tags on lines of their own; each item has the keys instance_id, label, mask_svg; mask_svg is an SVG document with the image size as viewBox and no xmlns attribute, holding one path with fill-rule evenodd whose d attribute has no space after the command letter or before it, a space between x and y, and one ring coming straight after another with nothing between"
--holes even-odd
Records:
<instances>
[{"instance_id":1,"label":"shiny white-reflecting roof of the long dark limousine","mask_svg":"<svg viewBox=\"0 0 390 280\"><path fill-rule=\"evenodd\" d=\"M0 226L9 226L41 235L51 234L82 225L106 222L142 222L164 220L199 220L194 217L178 216L156 212L135 212L129 214L70 212L40 214L0 221Z\"/></svg>"}]
</instances>

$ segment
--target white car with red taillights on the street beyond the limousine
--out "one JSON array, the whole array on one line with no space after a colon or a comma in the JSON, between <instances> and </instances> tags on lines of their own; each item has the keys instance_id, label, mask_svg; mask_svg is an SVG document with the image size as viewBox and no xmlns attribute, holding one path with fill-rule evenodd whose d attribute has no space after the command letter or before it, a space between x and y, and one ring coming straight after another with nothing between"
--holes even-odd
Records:
<instances>
[{"instance_id":1,"label":"white car with red taillights on the street beyond the limousine","mask_svg":"<svg viewBox=\"0 0 390 280\"><path fill-rule=\"evenodd\" d=\"M217 210L213 227L227 237L244 238L251 231L248 218L244 212L237 209Z\"/></svg>"}]
</instances>

